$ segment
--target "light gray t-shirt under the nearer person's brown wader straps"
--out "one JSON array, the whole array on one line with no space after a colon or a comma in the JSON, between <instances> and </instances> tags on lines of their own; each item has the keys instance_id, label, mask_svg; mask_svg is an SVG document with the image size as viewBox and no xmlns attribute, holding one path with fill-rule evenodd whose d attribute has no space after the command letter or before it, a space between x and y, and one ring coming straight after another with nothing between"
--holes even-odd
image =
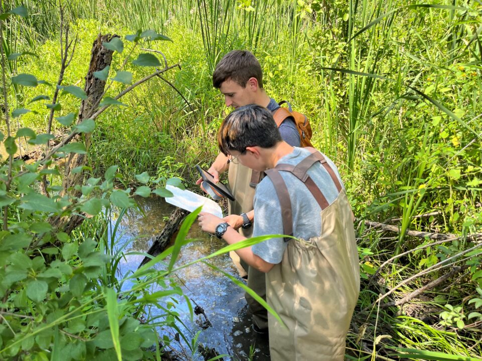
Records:
<instances>
[{"instance_id":1,"label":"light gray t-shirt under the nearer person's brown wader straps","mask_svg":"<svg viewBox=\"0 0 482 361\"><path fill-rule=\"evenodd\" d=\"M309 150L295 147L292 153L282 157L278 163L296 165L308 155L310 155ZM338 169L326 155L325 158L330 167L335 171L341 185L343 185L338 174ZM286 183L290 195L293 215L293 235L305 240L308 240L311 237L320 236L322 232L320 217L321 208L313 195L295 175L286 171L280 171L280 174ZM329 204L333 203L338 197L338 191L328 171L323 165L319 162L314 163L308 169L308 174L321 190L326 201ZM280 201L276 194L275 187L268 176L265 176L256 187L254 209L254 237L284 233ZM254 245L252 250L254 254L258 255L266 262L276 264L280 263L283 259L283 253L286 247L287 243L283 238L272 238Z\"/></svg>"}]
</instances>

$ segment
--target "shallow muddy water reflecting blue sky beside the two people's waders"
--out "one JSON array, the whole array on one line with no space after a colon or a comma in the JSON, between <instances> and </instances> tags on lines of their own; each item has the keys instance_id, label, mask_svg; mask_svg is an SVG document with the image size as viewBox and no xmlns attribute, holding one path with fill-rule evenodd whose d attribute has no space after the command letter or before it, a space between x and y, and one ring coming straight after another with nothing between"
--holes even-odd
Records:
<instances>
[{"instance_id":1,"label":"shallow muddy water reflecting blue sky beside the two people's waders","mask_svg":"<svg viewBox=\"0 0 482 361\"><path fill-rule=\"evenodd\" d=\"M163 218L174 210L173 206L162 199L140 198L137 202L142 212L130 210L122 218L116 233L116 247L125 246L124 253L146 252L155 236L163 229ZM223 241L202 232L197 223L192 226L188 238L196 241L181 249L177 265L189 263L225 246ZM129 270L135 271L142 259L143 256L138 255L126 256L119 265L119 272L125 275ZM210 263L241 280L227 254L211 259ZM244 291L240 287L202 263L187 267L177 272L176 276L184 294L193 300L192 306L202 307L211 323L211 326L203 329L206 322L202 314L195 315L192 322L186 301L179 297L176 311L186 325L180 326L183 334L189 338L202 330L199 342L205 347L214 348L219 354L226 354L224 360L247 360L250 348L251 352L255 350L253 360L270 359L266 337L256 334L250 328L251 315L246 306ZM125 287L130 285L126 284ZM151 313L156 315L163 311L151 309ZM176 348L181 350L183 347L186 348L186 345L181 344ZM198 356L197 359L202 357Z\"/></svg>"}]
</instances>

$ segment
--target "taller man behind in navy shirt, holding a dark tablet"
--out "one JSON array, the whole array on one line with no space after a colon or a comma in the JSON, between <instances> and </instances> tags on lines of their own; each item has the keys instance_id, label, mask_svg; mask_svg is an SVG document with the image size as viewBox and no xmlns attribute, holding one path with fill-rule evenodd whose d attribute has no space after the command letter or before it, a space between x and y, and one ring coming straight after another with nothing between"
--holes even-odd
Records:
<instances>
[{"instance_id":1,"label":"taller man behind in navy shirt, holding a dark tablet","mask_svg":"<svg viewBox=\"0 0 482 361\"><path fill-rule=\"evenodd\" d=\"M279 104L266 94L263 88L261 65L249 51L233 50L226 54L216 65L212 84L224 95L226 106L234 109L248 104L261 105L271 112L280 108ZM263 136L263 129L260 131L260 136ZM300 135L292 117L286 118L281 123L279 133L290 145L300 146ZM219 174L225 170L228 170L228 182L235 201L228 203L229 215L224 220L240 234L249 238L253 234L251 226L254 222L255 186L250 185L252 170L236 161L229 162L226 155L219 153L208 172L214 176L216 182L219 182ZM200 184L201 180L198 179L196 184ZM248 268L243 262L239 265L239 259L235 253L232 253L231 257L241 273ZM248 269L247 273L248 287L260 297L266 298L264 276L256 269ZM266 309L248 293L245 297L253 315L254 330L266 331L268 328Z\"/></svg>"}]
</instances>

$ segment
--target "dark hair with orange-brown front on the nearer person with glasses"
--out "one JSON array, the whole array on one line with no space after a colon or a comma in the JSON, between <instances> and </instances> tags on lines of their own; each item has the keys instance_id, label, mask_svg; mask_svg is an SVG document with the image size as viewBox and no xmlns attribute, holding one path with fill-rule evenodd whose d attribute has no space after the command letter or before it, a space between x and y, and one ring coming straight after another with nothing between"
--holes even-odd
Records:
<instances>
[{"instance_id":1,"label":"dark hair with orange-brown front on the nearer person with glasses","mask_svg":"<svg viewBox=\"0 0 482 361\"><path fill-rule=\"evenodd\" d=\"M245 105L230 113L217 134L217 145L224 155L232 150L244 153L249 146L271 148L280 141L281 134L273 115L256 104Z\"/></svg>"}]
</instances>

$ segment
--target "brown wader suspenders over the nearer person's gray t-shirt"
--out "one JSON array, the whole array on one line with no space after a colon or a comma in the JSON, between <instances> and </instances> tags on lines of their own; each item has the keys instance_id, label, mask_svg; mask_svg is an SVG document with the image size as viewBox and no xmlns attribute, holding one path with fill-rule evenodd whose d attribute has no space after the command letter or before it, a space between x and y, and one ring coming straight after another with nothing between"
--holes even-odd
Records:
<instances>
[{"instance_id":1,"label":"brown wader suspenders over the nearer person's gray t-shirt","mask_svg":"<svg viewBox=\"0 0 482 361\"><path fill-rule=\"evenodd\" d=\"M326 161L323 154L321 154L315 148L307 147L311 154L300 161L297 165L291 164L277 164L275 168L265 170L265 173L273 182L273 186L275 187L276 194L278 195L278 199L280 200L281 206L281 217L283 219L283 232L285 235L293 236L293 214L291 210L291 200L290 195L288 193L288 188L286 187L285 181L280 174L280 171L289 171L293 175L295 175L298 179L301 180L308 188L310 193L313 195L314 199L320 206L321 210L324 210L326 207L329 206L328 201L326 200L323 193L320 191L318 186L313 182L313 179L308 175L308 169L316 162L320 162L323 164L323 167L328 171L333 183L338 190L338 193L341 191L341 184L336 177L335 172L329 166L328 162ZM290 238L285 238L285 241L289 241Z\"/></svg>"}]
</instances>

